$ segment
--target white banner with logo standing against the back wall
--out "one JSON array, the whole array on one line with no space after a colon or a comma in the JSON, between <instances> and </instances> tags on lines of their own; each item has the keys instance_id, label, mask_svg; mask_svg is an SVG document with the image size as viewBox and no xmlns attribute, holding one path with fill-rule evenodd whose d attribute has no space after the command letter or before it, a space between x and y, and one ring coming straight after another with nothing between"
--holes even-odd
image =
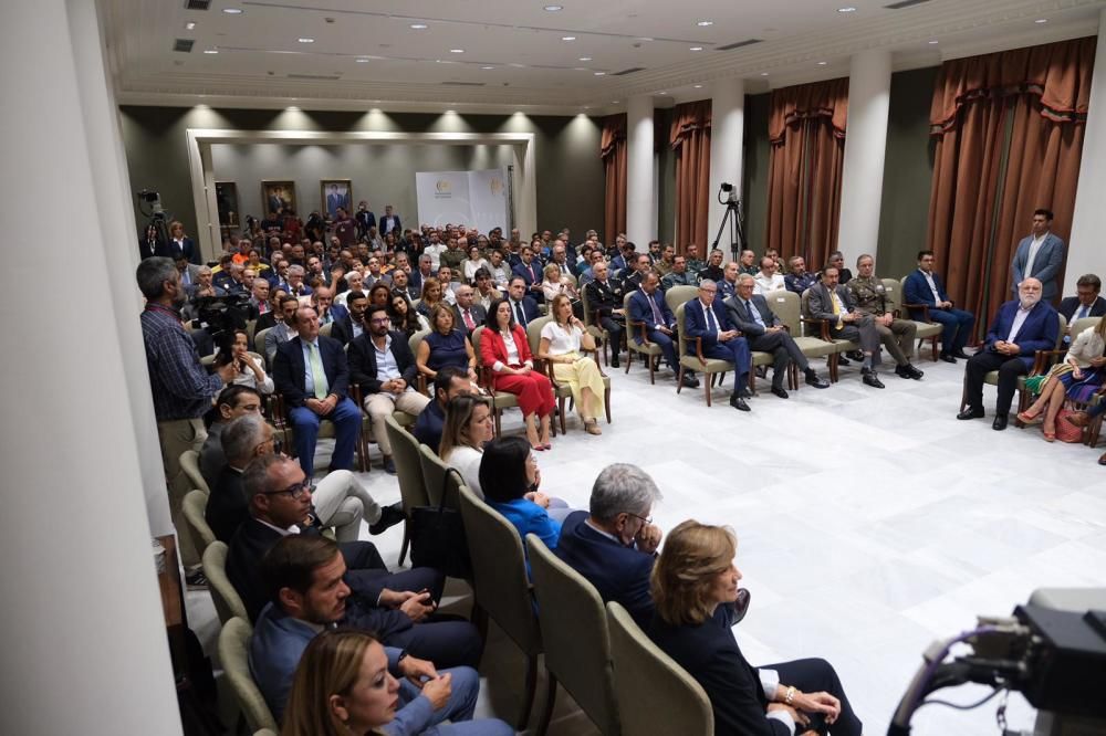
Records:
<instances>
[{"instance_id":1,"label":"white banner with logo standing against the back wall","mask_svg":"<svg viewBox=\"0 0 1106 736\"><path fill-rule=\"evenodd\" d=\"M417 171L419 224L466 224L482 233L507 227L507 171Z\"/></svg>"}]
</instances>

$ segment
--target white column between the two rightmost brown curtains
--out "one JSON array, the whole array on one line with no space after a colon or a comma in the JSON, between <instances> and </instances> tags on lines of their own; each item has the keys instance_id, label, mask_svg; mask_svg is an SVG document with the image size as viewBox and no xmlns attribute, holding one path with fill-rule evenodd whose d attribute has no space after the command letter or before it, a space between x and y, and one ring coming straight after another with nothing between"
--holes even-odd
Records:
<instances>
[{"instance_id":1,"label":"white column between the two rightmost brown curtains","mask_svg":"<svg viewBox=\"0 0 1106 736\"><path fill-rule=\"evenodd\" d=\"M856 273L857 256L863 253L875 256L879 241L879 204L884 191L890 94L890 52L864 51L853 56L848 75L841 227L837 231L837 248L853 273ZM815 263L813 267L821 269L822 264Z\"/></svg>"}]
</instances>

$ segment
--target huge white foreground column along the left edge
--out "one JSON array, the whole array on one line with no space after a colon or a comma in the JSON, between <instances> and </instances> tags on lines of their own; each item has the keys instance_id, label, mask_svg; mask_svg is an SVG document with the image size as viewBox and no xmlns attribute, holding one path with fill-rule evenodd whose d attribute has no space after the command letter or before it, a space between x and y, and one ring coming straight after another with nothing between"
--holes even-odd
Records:
<instances>
[{"instance_id":1,"label":"huge white foreground column along the left edge","mask_svg":"<svg viewBox=\"0 0 1106 736\"><path fill-rule=\"evenodd\" d=\"M23 232L35 213L56 210L81 232L53 239L54 261L80 274L76 291L56 293L55 269L34 248L6 248L0 270L9 304L44 309L62 326L45 327L44 316L8 325L0 709L13 734L173 736L181 728L111 273L112 252L133 250L135 236L116 241L102 217L104 208L116 217L124 200L121 188L97 191L92 172L84 103L105 85L82 88L87 60L71 28L95 36L96 25L81 18L64 0L11 0L0 25L6 95L42 99L49 90L50 101L0 112L0 160L15 177L0 229Z\"/></svg>"}]
</instances>

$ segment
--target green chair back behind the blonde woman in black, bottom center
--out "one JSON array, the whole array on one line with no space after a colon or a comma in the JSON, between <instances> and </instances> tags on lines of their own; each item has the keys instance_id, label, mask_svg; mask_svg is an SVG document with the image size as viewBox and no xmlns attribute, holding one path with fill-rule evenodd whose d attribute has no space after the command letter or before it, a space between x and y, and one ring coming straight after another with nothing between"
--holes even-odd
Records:
<instances>
[{"instance_id":1,"label":"green chair back behind the blonde woman in black, bottom center","mask_svg":"<svg viewBox=\"0 0 1106 736\"><path fill-rule=\"evenodd\" d=\"M713 734L714 712L702 685L614 601L607 603L607 624L623 736Z\"/></svg>"}]
</instances>

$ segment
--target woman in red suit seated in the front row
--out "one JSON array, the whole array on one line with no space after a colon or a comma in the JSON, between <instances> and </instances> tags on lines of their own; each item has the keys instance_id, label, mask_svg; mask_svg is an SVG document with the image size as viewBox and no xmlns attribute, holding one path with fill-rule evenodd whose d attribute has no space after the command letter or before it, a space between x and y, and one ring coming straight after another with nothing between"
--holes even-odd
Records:
<instances>
[{"instance_id":1,"label":"woman in red suit seated in the front row","mask_svg":"<svg viewBox=\"0 0 1106 736\"><path fill-rule=\"evenodd\" d=\"M552 449L550 414L555 407L553 386L547 377L534 370L526 330L515 324L510 302L493 302L484 326L487 329L480 338L480 358L492 371L492 387L519 397L530 446L534 450Z\"/></svg>"}]
</instances>

